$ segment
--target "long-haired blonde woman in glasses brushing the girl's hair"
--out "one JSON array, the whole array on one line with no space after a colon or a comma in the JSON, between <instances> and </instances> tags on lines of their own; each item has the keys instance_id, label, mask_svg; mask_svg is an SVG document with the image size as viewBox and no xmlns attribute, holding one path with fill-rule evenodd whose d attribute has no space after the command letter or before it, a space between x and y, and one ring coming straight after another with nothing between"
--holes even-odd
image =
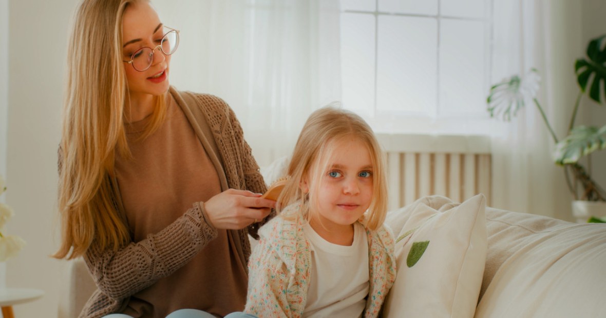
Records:
<instances>
[{"instance_id":1,"label":"long-haired blonde woman in glasses brushing the girl's hair","mask_svg":"<svg viewBox=\"0 0 606 318\"><path fill-rule=\"evenodd\" d=\"M98 286L80 317L244 309L248 234L275 202L231 108L168 84L178 42L145 0L76 13L54 256L84 256Z\"/></svg>"}]
</instances>

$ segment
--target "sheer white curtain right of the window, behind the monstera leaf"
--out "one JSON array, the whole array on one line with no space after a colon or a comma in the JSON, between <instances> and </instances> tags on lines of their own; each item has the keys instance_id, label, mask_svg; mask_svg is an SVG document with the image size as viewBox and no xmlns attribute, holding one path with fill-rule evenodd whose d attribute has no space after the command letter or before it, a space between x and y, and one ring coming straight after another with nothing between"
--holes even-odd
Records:
<instances>
[{"instance_id":1,"label":"sheer white curtain right of the window, behind the monstera leaf","mask_svg":"<svg viewBox=\"0 0 606 318\"><path fill-rule=\"evenodd\" d=\"M581 8L567 0L494 1L493 79L534 67L539 102L559 138L576 98L574 59L582 55ZM564 170L553 164L553 141L534 105L493 137L493 206L572 220Z\"/></svg>"}]
</instances>

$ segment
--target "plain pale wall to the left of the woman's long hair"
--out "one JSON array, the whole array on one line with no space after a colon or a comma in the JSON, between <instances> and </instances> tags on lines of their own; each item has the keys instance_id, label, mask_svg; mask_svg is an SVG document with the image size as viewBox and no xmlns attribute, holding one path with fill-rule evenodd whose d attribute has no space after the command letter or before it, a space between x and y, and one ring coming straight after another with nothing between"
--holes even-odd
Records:
<instances>
[{"instance_id":1,"label":"plain pale wall to the left of the woman's long hair","mask_svg":"<svg viewBox=\"0 0 606 318\"><path fill-rule=\"evenodd\" d=\"M76 0L8 1L10 191L6 199L15 210L10 233L21 236L27 245L18 257L7 262L7 286L45 291L42 299L16 305L15 317L56 317L58 308L58 276L64 262L49 255L58 246L53 237L57 147L67 30L75 3Z\"/></svg>"}]
</instances>

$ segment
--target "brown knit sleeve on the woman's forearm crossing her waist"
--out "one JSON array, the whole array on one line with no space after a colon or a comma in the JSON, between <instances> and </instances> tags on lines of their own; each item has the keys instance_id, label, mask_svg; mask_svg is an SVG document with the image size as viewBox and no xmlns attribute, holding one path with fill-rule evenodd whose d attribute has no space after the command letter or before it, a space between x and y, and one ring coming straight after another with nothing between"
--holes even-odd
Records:
<instances>
[{"instance_id":1,"label":"brown knit sleeve on the woman's forearm crossing her waist","mask_svg":"<svg viewBox=\"0 0 606 318\"><path fill-rule=\"evenodd\" d=\"M124 299L185 265L218 235L203 209L195 203L164 230L118 251L99 251L93 243L84 259L99 290Z\"/></svg>"}]
</instances>

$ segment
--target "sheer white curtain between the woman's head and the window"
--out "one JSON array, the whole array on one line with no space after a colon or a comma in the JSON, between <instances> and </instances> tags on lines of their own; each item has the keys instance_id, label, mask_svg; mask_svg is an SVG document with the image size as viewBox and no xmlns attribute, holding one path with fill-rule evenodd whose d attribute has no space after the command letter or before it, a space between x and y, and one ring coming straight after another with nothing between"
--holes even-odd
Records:
<instances>
[{"instance_id":1,"label":"sheer white curtain between the woman's head and the window","mask_svg":"<svg viewBox=\"0 0 606 318\"><path fill-rule=\"evenodd\" d=\"M290 154L311 111L341 98L338 0L156 0L181 30L171 84L230 104L260 165Z\"/></svg>"}]
</instances>

